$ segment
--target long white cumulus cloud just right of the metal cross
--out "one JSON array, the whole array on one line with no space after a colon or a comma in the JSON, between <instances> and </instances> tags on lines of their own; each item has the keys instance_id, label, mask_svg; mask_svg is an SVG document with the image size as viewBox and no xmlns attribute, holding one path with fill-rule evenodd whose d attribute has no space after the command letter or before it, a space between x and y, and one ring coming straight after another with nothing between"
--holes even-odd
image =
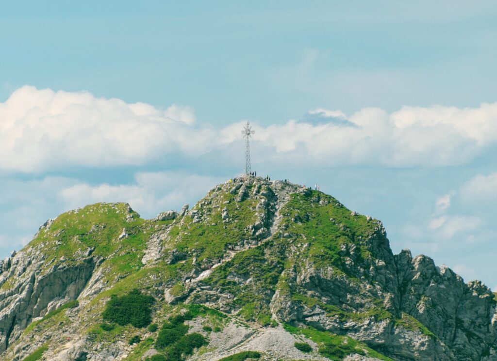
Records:
<instances>
[{"instance_id":1,"label":"long white cumulus cloud just right of the metal cross","mask_svg":"<svg viewBox=\"0 0 497 361\"><path fill-rule=\"evenodd\" d=\"M347 118L353 125L348 127L336 124L342 113L313 113L331 121L291 120L261 129L255 139L277 153L297 151L308 161L389 167L458 165L497 141L497 103L475 109L403 107L392 114L366 108Z\"/></svg>"}]
</instances>

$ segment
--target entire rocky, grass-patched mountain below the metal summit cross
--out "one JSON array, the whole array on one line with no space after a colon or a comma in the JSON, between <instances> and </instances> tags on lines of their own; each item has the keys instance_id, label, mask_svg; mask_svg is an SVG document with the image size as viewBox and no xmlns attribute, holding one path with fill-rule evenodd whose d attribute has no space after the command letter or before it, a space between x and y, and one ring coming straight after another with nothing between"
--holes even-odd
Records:
<instances>
[{"instance_id":1,"label":"entire rocky, grass-patched mountain below the metal summit cross","mask_svg":"<svg viewBox=\"0 0 497 361\"><path fill-rule=\"evenodd\" d=\"M0 262L0 360L497 360L496 301L330 195L256 177L98 203Z\"/></svg>"}]
</instances>

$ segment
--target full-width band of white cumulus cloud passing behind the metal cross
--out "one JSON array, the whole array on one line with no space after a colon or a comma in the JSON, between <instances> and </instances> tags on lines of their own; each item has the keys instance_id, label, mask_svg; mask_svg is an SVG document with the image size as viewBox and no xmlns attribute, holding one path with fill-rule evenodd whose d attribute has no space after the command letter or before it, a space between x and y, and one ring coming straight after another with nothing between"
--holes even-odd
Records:
<instances>
[{"instance_id":1,"label":"full-width band of white cumulus cloud passing behind the metal cross","mask_svg":"<svg viewBox=\"0 0 497 361\"><path fill-rule=\"evenodd\" d=\"M464 109L403 107L391 114L365 108L349 117L317 108L307 116L265 127L254 124L254 155L296 166L449 166L468 162L497 142L497 103ZM0 103L0 119L4 171L133 166L206 154L226 160L234 147L242 147L242 122L216 129L198 124L188 107L161 110L88 92L25 86Z\"/></svg>"}]
</instances>

